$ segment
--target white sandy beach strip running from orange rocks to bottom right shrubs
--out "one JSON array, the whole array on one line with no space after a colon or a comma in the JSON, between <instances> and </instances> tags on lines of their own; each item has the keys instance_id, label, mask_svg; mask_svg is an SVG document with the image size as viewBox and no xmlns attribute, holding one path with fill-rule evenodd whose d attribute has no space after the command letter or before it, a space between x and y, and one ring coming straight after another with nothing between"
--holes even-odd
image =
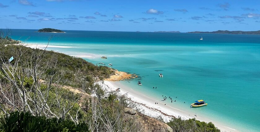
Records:
<instances>
[{"instance_id":1,"label":"white sandy beach strip running from orange rocks to bottom right shrubs","mask_svg":"<svg viewBox=\"0 0 260 132\"><path fill-rule=\"evenodd\" d=\"M135 102L137 107L141 109L142 113L147 116L151 116L151 117L162 116L163 120L166 122L170 121L172 117L179 117L179 116L182 119L196 118L199 121L212 122L221 131L238 132L238 130L225 126L220 122L212 121L210 119L207 119L199 115L195 116L195 113L182 111L180 109L168 105L164 105L165 103L163 103L162 101L147 97L141 92L135 91L130 87L121 84L120 81L113 81L113 82L103 81L98 83L103 87L103 89L107 89L111 91L115 91L116 89L120 88L119 93L122 95L126 94L127 98L131 99L132 102ZM158 102L158 104L155 104L155 102Z\"/></svg>"}]
</instances>

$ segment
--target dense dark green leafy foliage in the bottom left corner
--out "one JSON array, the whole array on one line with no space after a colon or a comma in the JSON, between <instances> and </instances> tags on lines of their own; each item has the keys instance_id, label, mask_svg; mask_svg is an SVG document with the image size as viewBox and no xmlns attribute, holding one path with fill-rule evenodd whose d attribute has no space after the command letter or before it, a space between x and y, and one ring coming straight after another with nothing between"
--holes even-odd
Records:
<instances>
[{"instance_id":1,"label":"dense dark green leafy foliage in the bottom left corner","mask_svg":"<svg viewBox=\"0 0 260 132\"><path fill-rule=\"evenodd\" d=\"M26 112L11 112L0 121L0 130L3 132L88 132L88 125L45 116L32 116Z\"/></svg>"}]
</instances>

